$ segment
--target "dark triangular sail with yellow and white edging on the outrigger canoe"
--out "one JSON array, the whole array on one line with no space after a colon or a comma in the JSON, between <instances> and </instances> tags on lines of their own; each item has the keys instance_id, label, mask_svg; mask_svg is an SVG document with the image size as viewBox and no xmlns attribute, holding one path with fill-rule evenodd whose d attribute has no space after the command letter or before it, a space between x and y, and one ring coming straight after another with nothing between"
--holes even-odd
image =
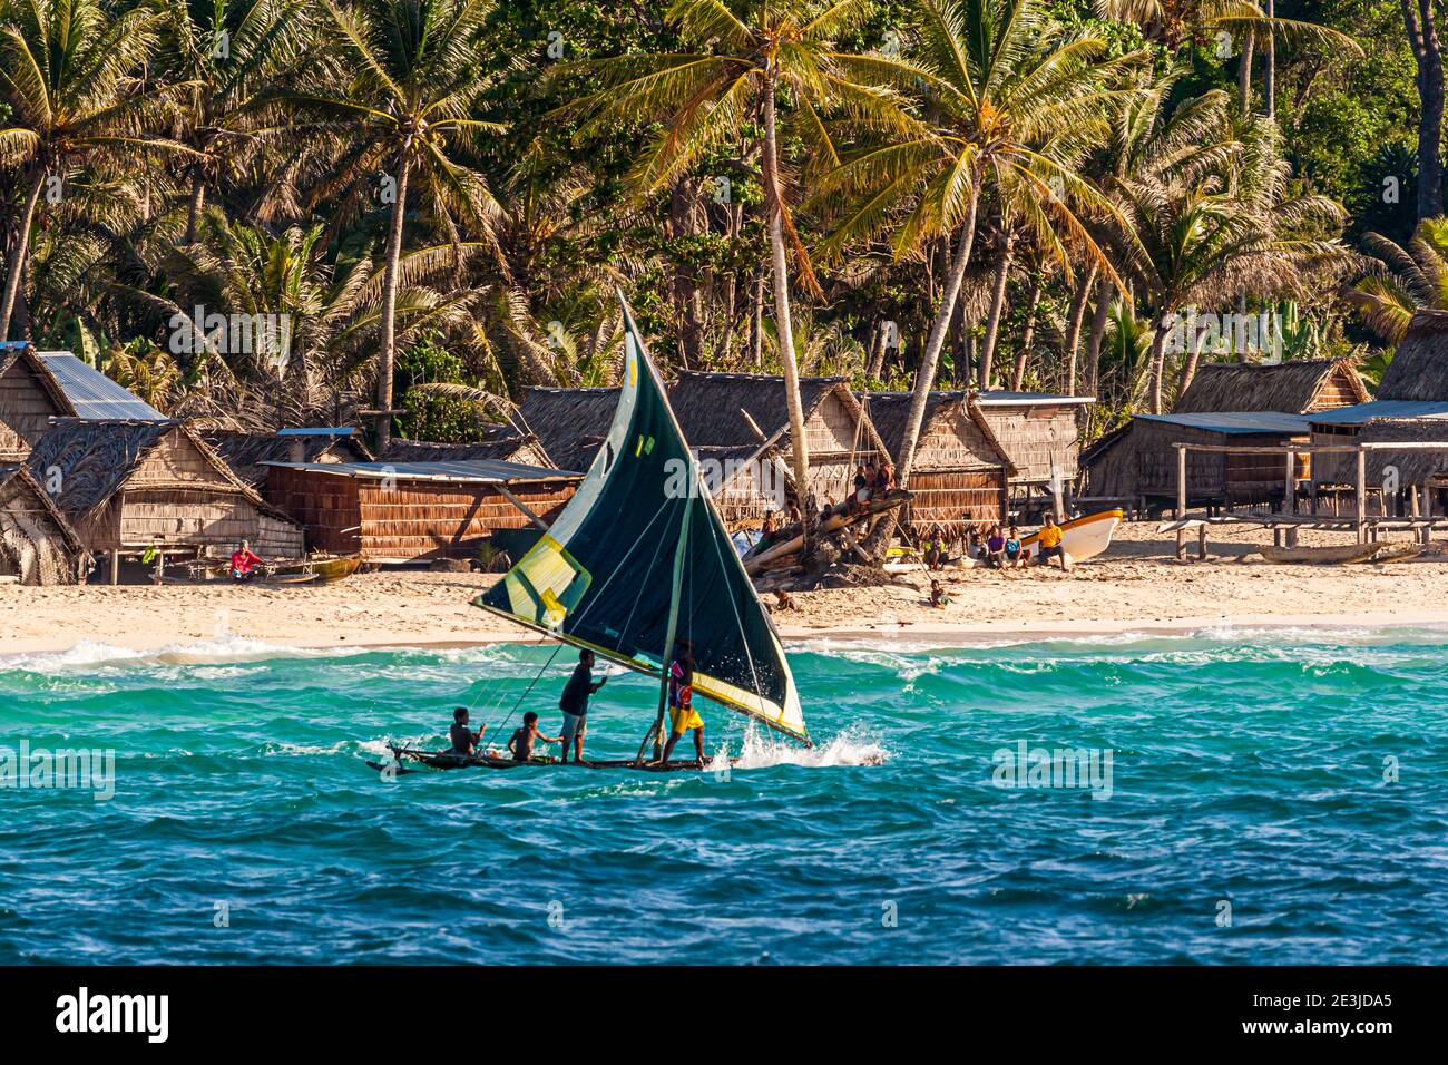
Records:
<instances>
[{"instance_id":1,"label":"dark triangular sail with yellow and white edging on the outrigger canoe","mask_svg":"<svg viewBox=\"0 0 1448 1065\"><path fill-rule=\"evenodd\" d=\"M475 604L654 677L676 611L695 691L808 743L783 648L623 310L608 436L553 526Z\"/></svg>"}]
</instances>

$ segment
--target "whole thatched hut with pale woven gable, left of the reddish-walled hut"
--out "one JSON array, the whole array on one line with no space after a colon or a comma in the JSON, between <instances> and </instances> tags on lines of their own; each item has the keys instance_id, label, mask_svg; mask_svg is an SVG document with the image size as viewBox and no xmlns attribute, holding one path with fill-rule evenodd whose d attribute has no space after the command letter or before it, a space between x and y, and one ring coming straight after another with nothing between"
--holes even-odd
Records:
<instances>
[{"instance_id":1,"label":"whole thatched hut with pale woven gable, left of the reddish-walled hut","mask_svg":"<svg viewBox=\"0 0 1448 1065\"><path fill-rule=\"evenodd\" d=\"M180 422L59 422L26 467L93 552L217 555L240 539L258 555L303 551L301 527Z\"/></svg>"}]
</instances>

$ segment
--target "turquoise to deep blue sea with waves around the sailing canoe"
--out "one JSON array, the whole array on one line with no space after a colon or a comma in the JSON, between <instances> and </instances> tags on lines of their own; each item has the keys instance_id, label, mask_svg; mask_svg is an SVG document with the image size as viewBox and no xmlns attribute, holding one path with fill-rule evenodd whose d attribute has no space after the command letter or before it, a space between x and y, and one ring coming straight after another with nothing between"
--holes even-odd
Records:
<instances>
[{"instance_id":1,"label":"turquoise to deep blue sea with waves around the sailing canoe","mask_svg":"<svg viewBox=\"0 0 1448 1065\"><path fill-rule=\"evenodd\" d=\"M0 790L0 962L1444 961L1444 633L791 651L814 752L718 711L728 774L394 781L550 651L0 659L0 751L116 752L109 801ZM613 678L589 751L653 691ZM1022 740L1099 797L1002 787Z\"/></svg>"}]
</instances>

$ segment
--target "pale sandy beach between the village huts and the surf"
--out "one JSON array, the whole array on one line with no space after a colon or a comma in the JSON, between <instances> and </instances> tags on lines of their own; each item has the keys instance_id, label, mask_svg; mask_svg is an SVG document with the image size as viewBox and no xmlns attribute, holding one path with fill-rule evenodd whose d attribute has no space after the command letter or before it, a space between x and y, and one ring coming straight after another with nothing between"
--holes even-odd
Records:
<instances>
[{"instance_id":1,"label":"pale sandy beach between the village huts and the surf","mask_svg":"<svg viewBox=\"0 0 1448 1065\"><path fill-rule=\"evenodd\" d=\"M1303 543L1341 536L1303 535ZM1266 532L1212 530L1205 562L1179 562L1156 523L1118 529L1108 554L1057 569L954 569L953 600L927 604L924 574L880 588L796 593L775 616L786 640L927 640L941 646L1030 635L1182 632L1211 626L1389 626L1448 623L1448 555L1410 562L1271 565L1255 554ZM1192 545L1195 549L1195 543ZM321 585L0 584L0 653L64 651L81 640L133 649L224 636L306 648L465 645L534 639L469 606L497 575L414 571L359 574Z\"/></svg>"}]
</instances>

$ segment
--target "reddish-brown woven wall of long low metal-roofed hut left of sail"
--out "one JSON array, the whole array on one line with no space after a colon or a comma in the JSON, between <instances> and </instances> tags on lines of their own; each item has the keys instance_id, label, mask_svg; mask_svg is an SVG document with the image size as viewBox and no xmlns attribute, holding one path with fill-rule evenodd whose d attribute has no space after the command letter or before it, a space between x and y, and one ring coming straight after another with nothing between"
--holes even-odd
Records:
<instances>
[{"instance_id":1,"label":"reddish-brown woven wall of long low metal-roofed hut left of sail","mask_svg":"<svg viewBox=\"0 0 1448 1065\"><path fill-rule=\"evenodd\" d=\"M361 555L375 562L472 558L498 529L530 525L495 487L458 481L342 477L272 467L268 491L301 522L314 549ZM573 496L572 481L510 485L536 514Z\"/></svg>"}]
</instances>

